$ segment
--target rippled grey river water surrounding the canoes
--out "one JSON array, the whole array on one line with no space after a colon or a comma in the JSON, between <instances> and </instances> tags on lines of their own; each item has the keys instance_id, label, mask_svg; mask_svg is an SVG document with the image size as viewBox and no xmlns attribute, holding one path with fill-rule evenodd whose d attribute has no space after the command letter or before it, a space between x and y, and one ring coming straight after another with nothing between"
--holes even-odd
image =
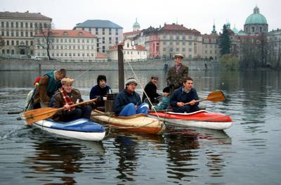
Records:
<instances>
[{"instance_id":1,"label":"rippled grey river water surrounding the canoes","mask_svg":"<svg viewBox=\"0 0 281 185\"><path fill-rule=\"evenodd\" d=\"M223 132L170 126L154 136L114 130L100 142L42 132L7 114L25 105L39 74L44 72L0 72L0 184L280 184L280 72L190 71L200 98L218 89L226 95L224 102L202 102L233 118ZM99 74L117 92L117 71L89 71L74 83L85 100ZM136 71L143 85L152 74L163 89L166 72Z\"/></svg>"}]
</instances>

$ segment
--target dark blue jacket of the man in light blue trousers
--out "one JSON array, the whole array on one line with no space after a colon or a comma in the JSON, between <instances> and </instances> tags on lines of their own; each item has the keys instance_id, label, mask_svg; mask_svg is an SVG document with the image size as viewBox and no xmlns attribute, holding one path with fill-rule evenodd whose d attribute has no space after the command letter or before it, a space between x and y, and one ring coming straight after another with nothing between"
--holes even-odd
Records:
<instances>
[{"instance_id":1,"label":"dark blue jacket of the man in light blue trousers","mask_svg":"<svg viewBox=\"0 0 281 185\"><path fill-rule=\"evenodd\" d=\"M115 114L119 115L121 110L129 103L141 105L141 96L136 92L133 92L133 94L129 94L129 92L124 89L123 91L119 92L119 94L117 94L117 97L115 98Z\"/></svg>"}]
</instances>

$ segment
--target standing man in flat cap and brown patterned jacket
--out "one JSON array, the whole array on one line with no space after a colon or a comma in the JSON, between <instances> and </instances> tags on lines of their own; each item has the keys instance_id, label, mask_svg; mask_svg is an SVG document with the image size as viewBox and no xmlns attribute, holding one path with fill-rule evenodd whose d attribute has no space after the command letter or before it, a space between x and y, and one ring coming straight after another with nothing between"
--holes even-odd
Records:
<instances>
[{"instance_id":1,"label":"standing man in flat cap and brown patterned jacket","mask_svg":"<svg viewBox=\"0 0 281 185\"><path fill-rule=\"evenodd\" d=\"M171 91L178 89L183 84L183 78L188 77L188 67L183 65L183 55L175 55L175 65L169 68L168 77L166 79L167 85L171 88Z\"/></svg>"}]
</instances>

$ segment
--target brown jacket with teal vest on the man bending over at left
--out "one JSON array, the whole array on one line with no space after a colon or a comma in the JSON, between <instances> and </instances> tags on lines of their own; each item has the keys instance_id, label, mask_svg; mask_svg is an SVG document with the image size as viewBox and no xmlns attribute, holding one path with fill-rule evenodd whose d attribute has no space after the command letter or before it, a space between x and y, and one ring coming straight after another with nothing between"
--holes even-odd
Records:
<instances>
[{"instance_id":1,"label":"brown jacket with teal vest on the man bending over at left","mask_svg":"<svg viewBox=\"0 0 281 185\"><path fill-rule=\"evenodd\" d=\"M60 80L55 80L54 71L48 72L46 75L44 75L44 77L40 80L39 86L34 94L34 103L42 102L47 106L51 97L53 94L55 94L55 91L58 90L59 83Z\"/></svg>"}]
</instances>

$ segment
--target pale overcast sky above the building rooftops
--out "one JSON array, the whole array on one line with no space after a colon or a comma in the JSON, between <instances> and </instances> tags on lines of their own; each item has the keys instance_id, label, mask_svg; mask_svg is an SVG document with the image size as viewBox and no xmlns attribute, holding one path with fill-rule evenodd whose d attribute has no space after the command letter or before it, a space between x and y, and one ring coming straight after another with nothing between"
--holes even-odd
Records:
<instances>
[{"instance_id":1,"label":"pale overcast sky above the building rooftops","mask_svg":"<svg viewBox=\"0 0 281 185\"><path fill-rule=\"evenodd\" d=\"M0 11L40 12L53 19L56 29L72 29L85 20L111 20L131 32L138 18L141 29L183 24L209 34L215 23L221 32L227 21L242 30L246 18L258 6L266 17L269 30L281 28L280 0L1 0Z\"/></svg>"}]
</instances>

